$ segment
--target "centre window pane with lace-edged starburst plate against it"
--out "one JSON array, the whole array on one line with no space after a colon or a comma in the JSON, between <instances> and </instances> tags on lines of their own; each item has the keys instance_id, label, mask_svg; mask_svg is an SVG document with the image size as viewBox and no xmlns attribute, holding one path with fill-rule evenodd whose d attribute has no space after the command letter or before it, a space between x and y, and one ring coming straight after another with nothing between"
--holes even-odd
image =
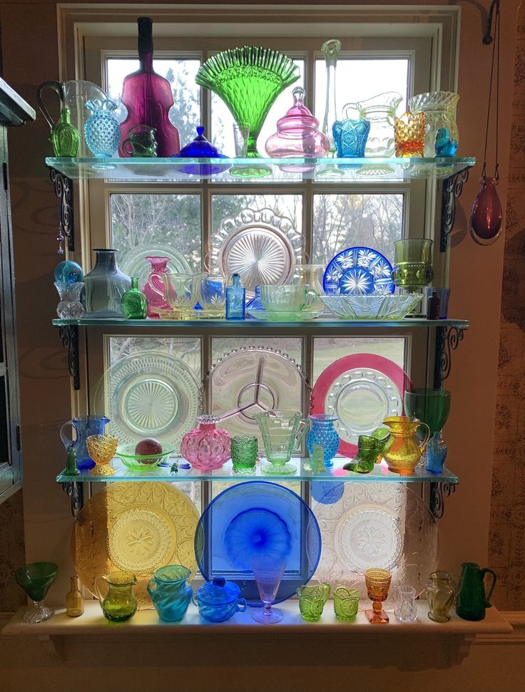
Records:
<instances>
[{"instance_id":1,"label":"centre window pane with lace-edged starburst plate against it","mask_svg":"<svg viewBox=\"0 0 525 692\"><path fill-rule=\"evenodd\" d=\"M212 273L239 272L248 291L284 283L304 262L302 196L213 195L209 252Z\"/></svg>"}]
</instances>

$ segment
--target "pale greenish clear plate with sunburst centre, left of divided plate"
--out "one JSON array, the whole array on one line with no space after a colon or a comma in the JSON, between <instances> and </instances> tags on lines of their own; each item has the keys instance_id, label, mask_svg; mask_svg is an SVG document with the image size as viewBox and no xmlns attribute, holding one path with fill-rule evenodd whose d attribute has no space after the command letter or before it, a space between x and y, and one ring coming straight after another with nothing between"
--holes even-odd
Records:
<instances>
[{"instance_id":1,"label":"pale greenish clear plate with sunburst centre, left of divided plate","mask_svg":"<svg viewBox=\"0 0 525 692\"><path fill-rule=\"evenodd\" d=\"M109 430L120 444L153 437L178 447L193 428L199 386L193 371L167 353L133 353L106 373Z\"/></svg>"}]
</instances>

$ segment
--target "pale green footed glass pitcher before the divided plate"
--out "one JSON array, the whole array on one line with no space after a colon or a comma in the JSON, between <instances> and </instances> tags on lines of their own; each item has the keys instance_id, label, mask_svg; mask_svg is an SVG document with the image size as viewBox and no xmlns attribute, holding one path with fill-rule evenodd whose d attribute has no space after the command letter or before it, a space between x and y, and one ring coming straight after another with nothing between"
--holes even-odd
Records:
<instances>
[{"instance_id":1,"label":"pale green footed glass pitcher before the divided plate","mask_svg":"<svg viewBox=\"0 0 525 692\"><path fill-rule=\"evenodd\" d=\"M307 431L307 420L301 418L299 411L286 409L256 413L253 418L263 435L268 462L261 465L261 471L270 474L295 473L295 465L287 462Z\"/></svg>"}]
</instances>

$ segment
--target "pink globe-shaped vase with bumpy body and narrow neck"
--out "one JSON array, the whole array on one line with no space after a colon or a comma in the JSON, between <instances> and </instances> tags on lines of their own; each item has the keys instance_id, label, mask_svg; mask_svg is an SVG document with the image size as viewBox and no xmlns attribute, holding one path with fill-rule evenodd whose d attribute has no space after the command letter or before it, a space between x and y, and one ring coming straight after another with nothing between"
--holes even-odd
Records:
<instances>
[{"instance_id":1,"label":"pink globe-shaped vase with bumpy body and narrow neck","mask_svg":"<svg viewBox=\"0 0 525 692\"><path fill-rule=\"evenodd\" d=\"M180 443L180 453L193 468L210 471L221 468L230 458L230 433L215 428L217 418L199 415L199 427L186 433Z\"/></svg>"}]
</instances>

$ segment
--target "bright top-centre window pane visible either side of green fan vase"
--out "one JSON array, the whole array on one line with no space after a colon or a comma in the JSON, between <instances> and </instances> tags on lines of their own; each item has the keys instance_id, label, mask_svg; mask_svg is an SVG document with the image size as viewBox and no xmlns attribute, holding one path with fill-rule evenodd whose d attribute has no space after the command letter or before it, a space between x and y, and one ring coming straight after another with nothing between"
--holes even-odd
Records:
<instances>
[{"instance_id":1,"label":"bright top-centre window pane visible either side of green fan vase","mask_svg":"<svg viewBox=\"0 0 525 692\"><path fill-rule=\"evenodd\" d=\"M294 60L299 68L300 78L291 86L287 87L270 108L263 128L257 140L258 152L261 156L266 156L265 142L277 130L277 120L285 115L286 111L293 105L292 91L297 86L305 86L305 61ZM308 105L308 104L307 104ZM235 156L235 146L233 143L233 115L223 99L217 94L211 93L211 128L213 135L213 145L218 148L220 153L228 156Z\"/></svg>"}]
</instances>

